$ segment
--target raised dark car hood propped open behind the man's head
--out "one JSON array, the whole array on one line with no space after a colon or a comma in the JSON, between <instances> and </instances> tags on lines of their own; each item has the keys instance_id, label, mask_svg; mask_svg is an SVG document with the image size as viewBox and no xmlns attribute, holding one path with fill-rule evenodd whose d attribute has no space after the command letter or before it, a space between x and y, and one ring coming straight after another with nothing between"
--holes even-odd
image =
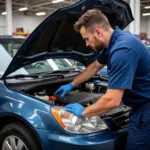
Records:
<instances>
[{"instance_id":1,"label":"raised dark car hood propped open behind the man's head","mask_svg":"<svg viewBox=\"0 0 150 150\"><path fill-rule=\"evenodd\" d=\"M80 0L71 6L60 8L28 37L2 79L27 64L47 57L71 58L86 65L92 50L86 47L80 34L74 31L73 24L85 11L92 8L100 9L108 17L112 27L124 29L133 21L129 5L122 0Z\"/></svg>"}]
</instances>

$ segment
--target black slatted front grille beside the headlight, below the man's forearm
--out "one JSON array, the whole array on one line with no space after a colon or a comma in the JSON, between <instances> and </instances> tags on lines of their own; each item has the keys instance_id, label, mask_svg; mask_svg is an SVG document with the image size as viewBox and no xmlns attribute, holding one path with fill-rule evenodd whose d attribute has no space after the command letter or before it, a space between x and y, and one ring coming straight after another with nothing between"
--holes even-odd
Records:
<instances>
[{"instance_id":1,"label":"black slatted front grille beside the headlight, below the man's forearm","mask_svg":"<svg viewBox=\"0 0 150 150\"><path fill-rule=\"evenodd\" d=\"M129 125L129 113L131 108L123 105L113 111L107 113L105 117L111 117L112 120L116 123L120 128L126 128Z\"/></svg>"}]
</instances>

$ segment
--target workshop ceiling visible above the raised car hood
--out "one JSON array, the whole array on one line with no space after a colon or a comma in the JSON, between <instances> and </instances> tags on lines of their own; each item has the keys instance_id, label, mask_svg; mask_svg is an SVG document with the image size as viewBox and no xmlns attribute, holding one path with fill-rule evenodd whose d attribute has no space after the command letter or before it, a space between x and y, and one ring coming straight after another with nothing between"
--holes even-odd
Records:
<instances>
[{"instance_id":1,"label":"workshop ceiling visible above the raised car hood","mask_svg":"<svg viewBox=\"0 0 150 150\"><path fill-rule=\"evenodd\" d=\"M56 9L71 5L76 1L77 0L64 0L63 2L53 4L52 0L12 0L12 9L13 12L18 12L19 8L28 7L28 10L24 11L26 15L34 15L37 12L50 14ZM129 3L130 0L124 1ZM141 0L141 12L150 12L150 9L144 8L145 6L150 6L150 0ZM0 10L1 12L5 11L5 0L0 0Z\"/></svg>"}]
</instances>

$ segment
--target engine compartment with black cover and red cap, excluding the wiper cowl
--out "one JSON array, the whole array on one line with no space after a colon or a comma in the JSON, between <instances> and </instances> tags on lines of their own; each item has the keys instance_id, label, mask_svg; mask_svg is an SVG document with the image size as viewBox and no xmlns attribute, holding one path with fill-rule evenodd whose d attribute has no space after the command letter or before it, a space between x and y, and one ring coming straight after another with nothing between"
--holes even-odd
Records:
<instances>
[{"instance_id":1,"label":"engine compartment with black cover and red cap, excluding the wiper cowl","mask_svg":"<svg viewBox=\"0 0 150 150\"><path fill-rule=\"evenodd\" d=\"M54 95L55 91L61 86L60 84L37 87L27 93L59 106L65 106L70 103L80 103L88 106L95 103L107 89L107 84L104 84L105 82L96 81L98 84L94 81L85 82L67 93L64 97L61 97L60 94ZM52 99L55 99L55 102Z\"/></svg>"}]
</instances>

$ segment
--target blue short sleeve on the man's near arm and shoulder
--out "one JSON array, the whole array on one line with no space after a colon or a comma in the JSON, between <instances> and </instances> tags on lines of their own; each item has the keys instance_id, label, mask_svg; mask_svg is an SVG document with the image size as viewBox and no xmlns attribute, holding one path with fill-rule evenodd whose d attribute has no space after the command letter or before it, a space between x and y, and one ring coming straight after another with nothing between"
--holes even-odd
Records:
<instances>
[{"instance_id":1,"label":"blue short sleeve on the man's near arm and shoulder","mask_svg":"<svg viewBox=\"0 0 150 150\"><path fill-rule=\"evenodd\" d=\"M108 89L132 89L138 65L137 53L128 48L116 50L110 58Z\"/></svg>"}]
</instances>

